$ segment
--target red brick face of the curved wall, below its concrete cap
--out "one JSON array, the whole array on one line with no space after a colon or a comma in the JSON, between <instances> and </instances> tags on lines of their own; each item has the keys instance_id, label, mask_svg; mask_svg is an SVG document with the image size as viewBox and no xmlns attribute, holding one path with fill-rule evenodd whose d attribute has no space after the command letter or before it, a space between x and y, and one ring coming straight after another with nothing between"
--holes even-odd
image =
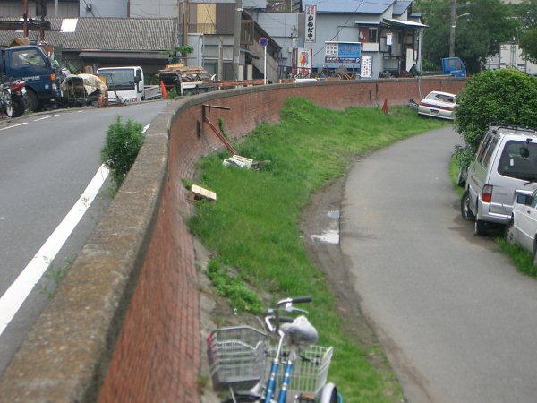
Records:
<instances>
[{"instance_id":1,"label":"red brick face of the curved wall, below its concrete cap","mask_svg":"<svg viewBox=\"0 0 537 403\"><path fill-rule=\"evenodd\" d=\"M200 297L192 238L186 227L192 208L181 179L194 178L195 163L200 156L222 149L217 136L202 123L202 104L230 107L230 110L210 109L208 116L215 125L221 118L226 134L236 138L262 122L277 122L280 108L293 95L335 109L382 107L385 99L390 107L406 104L409 99L419 100L420 93L424 96L430 90L456 93L464 83L461 80L403 79L273 85L220 91L177 101L169 130L168 172L158 219L115 343L100 401L200 401L196 386L204 340L200 339Z\"/></svg>"}]
</instances>

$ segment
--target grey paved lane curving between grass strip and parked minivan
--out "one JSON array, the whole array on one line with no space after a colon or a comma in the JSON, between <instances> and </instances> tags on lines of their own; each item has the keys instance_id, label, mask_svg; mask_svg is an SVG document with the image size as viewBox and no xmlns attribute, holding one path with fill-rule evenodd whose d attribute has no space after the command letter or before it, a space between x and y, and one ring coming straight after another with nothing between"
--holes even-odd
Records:
<instances>
[{"instance_id":1,"label":"grey paved lane curving between grass strip and parked minivan","mask_svg":"<svg viewBox=\"0 0 537 403\"><path fill-rule=\"evenodd\" d=\"M473 236L447 164L448 127L358 162L341 248L413 402L537 401L537 282Z\"/></svg>"}]
</instances>

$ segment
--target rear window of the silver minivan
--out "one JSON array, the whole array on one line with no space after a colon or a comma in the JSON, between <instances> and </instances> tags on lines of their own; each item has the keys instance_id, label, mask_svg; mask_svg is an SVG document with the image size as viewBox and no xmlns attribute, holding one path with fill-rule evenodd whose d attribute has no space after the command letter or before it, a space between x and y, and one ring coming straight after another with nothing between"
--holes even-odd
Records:
<instances>
[{"instance_id":1,"label":"rear window of the silver minivan","mask_svg":"<svg viewBox=\"0 0 537 403\"><path fill-rule=\"evenodd\" d=\"M499 175L537 181L537 143L507 141L498 165Z\"/></svg>"}]
</instances>

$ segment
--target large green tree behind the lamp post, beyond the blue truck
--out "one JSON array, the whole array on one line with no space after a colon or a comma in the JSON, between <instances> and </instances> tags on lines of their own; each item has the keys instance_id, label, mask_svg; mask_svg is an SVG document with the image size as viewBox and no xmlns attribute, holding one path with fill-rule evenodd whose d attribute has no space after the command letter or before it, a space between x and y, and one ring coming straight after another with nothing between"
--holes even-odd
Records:
<instances>
[{"instance_id":1,"label":"large green tree behind the lamp post, beyond the blue truck","mask_svg":"<svg viewBox=\"0 0 537 403\"><path fill-rule=\"evenodd\" d=\"M416 0L413 9L422 13L423 21L430 27L424 34L423 56L439 64L440 59L448 55L450 2ZM470 73L477 73L487 56L498 54L501 42L514 38L518 22L509 18L513 15L512 8L500 0L469 0L456 4L456 14L463 13L471 15L456 21L455 55L463 59Z\"/></svg>"}]
</instances>

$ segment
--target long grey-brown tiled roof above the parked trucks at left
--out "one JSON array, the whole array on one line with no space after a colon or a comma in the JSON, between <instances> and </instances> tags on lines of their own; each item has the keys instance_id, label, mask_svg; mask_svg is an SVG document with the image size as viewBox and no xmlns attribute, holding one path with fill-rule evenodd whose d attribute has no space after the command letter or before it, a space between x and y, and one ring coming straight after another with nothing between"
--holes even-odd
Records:
<instances>
[{"instance_id":1,"label":"long grey-brown tiled roof above the parked trucks at left","mask_svg":"<svg viewBox=\"0 0 537 403\"><path fill-rule=\"evenodd\" d=\"M164 51L177 46L177 20L173 18L79 18L74 32L54 31L61 28L62 18L47 21L53 31L45 32L45 41L64 49ZM21 32L0 30L0 45L21 37ZM30 39L38 37L38 31L30 31Z\"/></svg>"}]
</instances>

